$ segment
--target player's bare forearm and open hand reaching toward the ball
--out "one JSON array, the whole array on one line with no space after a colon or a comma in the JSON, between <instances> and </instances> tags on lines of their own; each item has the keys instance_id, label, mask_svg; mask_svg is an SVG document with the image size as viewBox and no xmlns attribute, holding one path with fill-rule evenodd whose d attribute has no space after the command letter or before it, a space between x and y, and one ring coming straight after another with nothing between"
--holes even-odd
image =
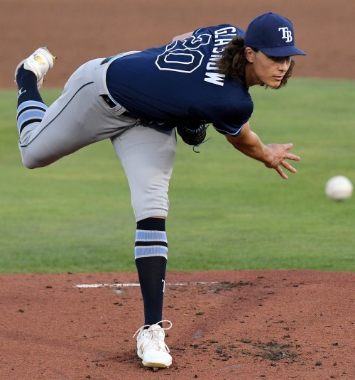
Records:
<instances>
[{"instance_id":1,"label":"player's bare forearm and open hand reaching toward the ball","mask_svg":"<svg viewBox=\"0 0 355 380\"><path fill-rule=\"evenodd\" d=\"M275 169L285 180L288 179L288 176L284 173L283 168L290 170L291 173L296 173L297 171L286 161L300 161L299 156L288 152L293 147L293 144L271 143L265 145L258 135L251 131L249 122L244 124L237 136L226 135L226 139L241 153L261 161L267 168Z\"/></svg>"}]
</instances>

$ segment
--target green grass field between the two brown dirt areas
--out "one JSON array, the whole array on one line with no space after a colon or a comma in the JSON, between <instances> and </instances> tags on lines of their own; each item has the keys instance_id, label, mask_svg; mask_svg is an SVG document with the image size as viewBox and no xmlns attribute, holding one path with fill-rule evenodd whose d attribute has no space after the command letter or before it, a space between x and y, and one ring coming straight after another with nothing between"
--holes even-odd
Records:
<instances>
[{"instance_id":1,"label":"green grass field between the two brown dirt areas","mask_svg":"<svg viewBox=\"0 0 355 380\"><path fill-rule=\"evenodd\" d=\"M60 91L43 89L50 104ZM355 196L332 202L333 175L355 184L355 82L293 79L252 87L251 126L293 142L296 175L246 158L212 128L194 153L179 138L167 220L170 271L355 271ZM21 164L16 93L0 92L0 272L135 271L126 177L102 141L47 168Z\"/></svg>"}]
</instances>

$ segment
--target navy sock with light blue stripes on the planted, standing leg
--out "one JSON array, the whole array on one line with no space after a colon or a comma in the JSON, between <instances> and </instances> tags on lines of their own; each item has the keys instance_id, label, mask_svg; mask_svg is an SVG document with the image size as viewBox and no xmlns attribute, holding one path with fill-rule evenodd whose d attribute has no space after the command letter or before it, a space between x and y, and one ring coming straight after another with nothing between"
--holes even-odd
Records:
<instances>
[{"instance_id":1,"label":"navy sock with light blue stripes on the planted, standing leg","mask_svg":"<svg viewBox=\"0 0 355 380\"><path fill-rule=\"evenodd\" d=\"M162 320L168 241L165 219L137 223L135 259L144 304L145 325Z\"/></svg>"}]
</instances>

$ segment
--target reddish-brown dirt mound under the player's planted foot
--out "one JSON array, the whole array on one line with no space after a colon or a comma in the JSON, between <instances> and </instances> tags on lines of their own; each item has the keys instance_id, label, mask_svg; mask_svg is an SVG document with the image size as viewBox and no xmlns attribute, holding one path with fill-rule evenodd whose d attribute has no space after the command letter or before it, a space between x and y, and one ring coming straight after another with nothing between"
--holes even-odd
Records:
<instances>
[{"instance_id":1,"label":"reddish-brown dirt mound under the player's planted foot","mask_svg":"<svg viewBox=\"0 0 355 380\"><path fill-rule=\"evenodd\" d=\"M158 373L135 352L137 283L135 273L0 276L1 379L355 376L355 273L169 272L173 365Z\"/></svg>"}]
</instances>

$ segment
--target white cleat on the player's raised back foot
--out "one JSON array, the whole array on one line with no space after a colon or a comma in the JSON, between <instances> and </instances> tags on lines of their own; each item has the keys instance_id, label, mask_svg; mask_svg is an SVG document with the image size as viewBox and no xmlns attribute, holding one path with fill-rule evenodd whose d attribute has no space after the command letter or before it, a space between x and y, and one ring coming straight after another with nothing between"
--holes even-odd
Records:
<instances>
[{"instance_id":1,"label":"white cleat on the player's raised back foot","mask_svg":"<svg viewBox=\"0 0 355 380\"><path fill-rule=\"evenodd\" d=\"M35 73L37 77L37 88L40 89L43 85L43 77L47 74L48 70L53 67L56 58L57 57L52 55L47 48L38 48L28 58L18 63L15 70L15 82L18 69L23 65L23 68Z\"/></svg>"}]
</instances>

